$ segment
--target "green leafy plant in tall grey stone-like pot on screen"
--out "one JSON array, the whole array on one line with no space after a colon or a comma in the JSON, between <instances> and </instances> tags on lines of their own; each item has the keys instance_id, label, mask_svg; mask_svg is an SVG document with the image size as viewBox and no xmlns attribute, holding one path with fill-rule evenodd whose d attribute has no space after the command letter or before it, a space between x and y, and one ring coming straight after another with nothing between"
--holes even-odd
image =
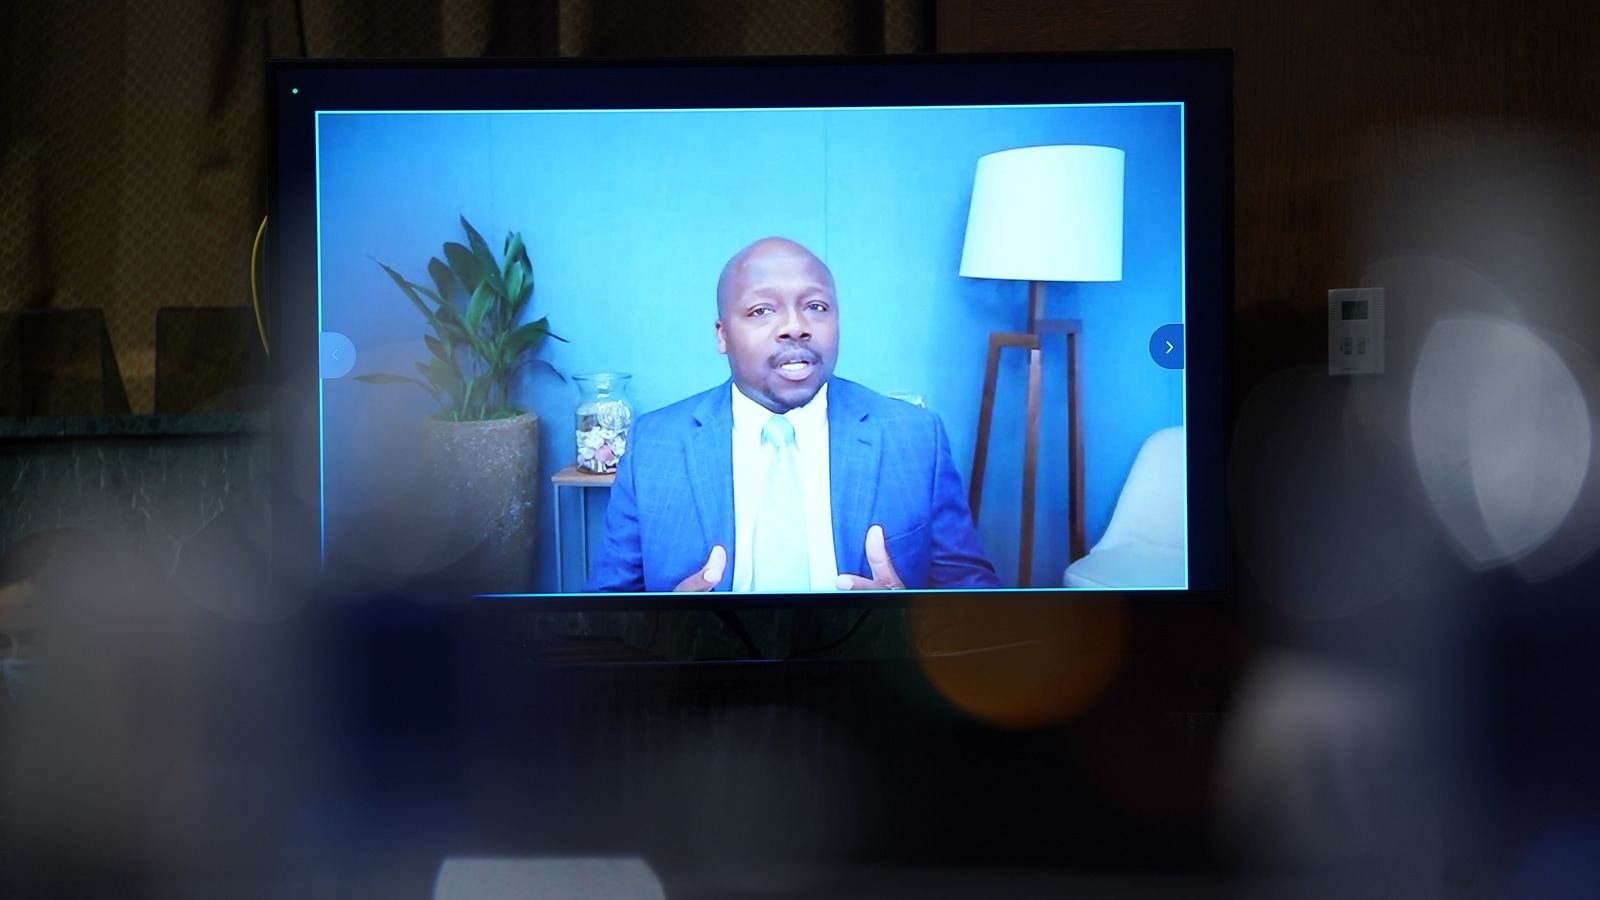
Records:
<instances>
[{"instance_id":1,"label":"green leafy plant in tall grey stone-like pot on screen","mask_svg":"<svg viewBox=\"0 0 1600 900\"><path fill-rule=\"evenodd\" d=\"M514 375L528 364L560 373L538 357L549 319L522 322L533 298L533 266L522 235L506 235L499 259L461 218L467 243L448 242L429 259L432 287L378 263L422 314L427 359L421 378L358 375L370 384L418 384L438 404L422 423L421 461L429 488L424 512L448 528L467 554L474 588L526 589L538 522L539 420L512 402ZM376 259L374 259L376 261Z\"/></svg>"}]
</instances>

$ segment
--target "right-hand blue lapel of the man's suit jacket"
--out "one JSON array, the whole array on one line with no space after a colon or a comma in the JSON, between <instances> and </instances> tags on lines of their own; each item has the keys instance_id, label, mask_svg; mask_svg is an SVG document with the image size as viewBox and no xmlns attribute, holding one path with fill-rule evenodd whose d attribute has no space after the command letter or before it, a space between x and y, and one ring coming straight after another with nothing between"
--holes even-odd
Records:
<instances>
[{"instance_id":1,"label":"right-hand blue lapel of the man's suit jacket","mask_svg":"<svg viewBox=\"0 0 1600 900\"><path fill-rule=\"evenodd\" d=\"M867 527L874 485L878 484L882 434L861 402L859 386L834 378L827 388L829 482L834 508L834 559L848 575L872 573L867 565Z\"/></svg>"}]
</instances>

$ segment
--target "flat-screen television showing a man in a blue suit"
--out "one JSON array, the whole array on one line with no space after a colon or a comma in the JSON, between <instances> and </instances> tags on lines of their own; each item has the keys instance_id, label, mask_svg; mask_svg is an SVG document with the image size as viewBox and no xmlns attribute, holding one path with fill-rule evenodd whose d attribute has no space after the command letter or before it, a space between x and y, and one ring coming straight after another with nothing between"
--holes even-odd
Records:
<instances>
[{"instance_id":1,"label":"flat-screen television showing a man in a blue suit","mask_svg":"<svg viewBox=\"0 0 1600 900\"><path fill-rule=\"evenodd\" d=\"M552 609L1226 589L1230 78L272 62L277 565Z\"/></svg>"}]
</instances>

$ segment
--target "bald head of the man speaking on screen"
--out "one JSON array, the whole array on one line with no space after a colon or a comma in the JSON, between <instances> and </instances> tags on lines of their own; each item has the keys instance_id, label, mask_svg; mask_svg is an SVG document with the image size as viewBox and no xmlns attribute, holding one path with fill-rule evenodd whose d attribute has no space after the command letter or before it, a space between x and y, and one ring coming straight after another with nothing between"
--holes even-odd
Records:
<instances>
[{"instance_id":1,"label":"bald head of the man speaking on screen","mask_svg":"<svg viewBox=\"0 0 1600 900\"><path fill-rule=\"evenodd\" d=\"M810 404L838 356L834 274L786 237L734 253L717 279L717 351L739 391L768 410Z\"/></svg>"}]
</instances>

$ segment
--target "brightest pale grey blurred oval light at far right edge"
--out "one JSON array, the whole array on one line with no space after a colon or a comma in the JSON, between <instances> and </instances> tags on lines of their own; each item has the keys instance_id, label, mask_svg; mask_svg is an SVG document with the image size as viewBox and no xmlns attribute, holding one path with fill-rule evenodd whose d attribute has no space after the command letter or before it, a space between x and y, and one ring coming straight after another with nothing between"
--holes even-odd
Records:
<instances>
[{"instance_id":1,"label":"brightest pale grey blurred oval light at far right edge","mask_svg":"<svg viewBox=\"0 0 1600 900\"><path fill-rule=\"evenodd\" d=\"M1578 381L1531 330L1453 317L1429 330L1411 380L1411 445L1462 559L1499 565L1566 519L1592 456Z\"/></svg>"}]
</instances>

